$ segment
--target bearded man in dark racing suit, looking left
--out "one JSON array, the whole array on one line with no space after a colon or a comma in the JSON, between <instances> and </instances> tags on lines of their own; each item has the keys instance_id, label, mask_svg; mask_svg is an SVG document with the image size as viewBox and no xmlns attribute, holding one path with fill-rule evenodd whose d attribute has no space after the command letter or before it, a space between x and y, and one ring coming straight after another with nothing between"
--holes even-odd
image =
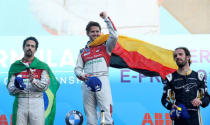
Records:
<instances>
[{"instance_id":1,"label":"bearded man in dark racing suit, looking left","mask_svg":"<svg viewBox=\"0 0 210 125\"><path fill-rule=\"evenodd\" d=\"M209 104L209 96L205 76L202 72L190 69L190 52L185 47L176 48L174 60L178 70L163 80L164 91L161 102L171 110L182 104L186 107L189 118L173 119L174 125L202 125L200 106Z\"/></svg>"}]
</instances>

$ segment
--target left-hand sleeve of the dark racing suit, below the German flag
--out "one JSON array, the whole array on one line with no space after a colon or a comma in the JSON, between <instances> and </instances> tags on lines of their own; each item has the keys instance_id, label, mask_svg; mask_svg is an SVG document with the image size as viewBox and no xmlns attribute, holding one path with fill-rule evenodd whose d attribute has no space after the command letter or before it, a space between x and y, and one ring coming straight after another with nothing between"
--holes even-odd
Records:
<instances>
[{"instance_id":1,"label":"left-hand sleeve of the dark racing suit, below the German flag","mask_svg":"<svg viewBox=\"0 0 210 125\"><path fill-rule=\"evenodd\" d=\"M169 80L166 77L166 79L162 80L162 82L163 82L164 87L163 87L163 95L161 98L161 102L165 108L167 108L168 110L171 110L173 104L171 103L169 99L169 92L171 90L170 85L169 85Z\"/></svg>"}]
</instances>

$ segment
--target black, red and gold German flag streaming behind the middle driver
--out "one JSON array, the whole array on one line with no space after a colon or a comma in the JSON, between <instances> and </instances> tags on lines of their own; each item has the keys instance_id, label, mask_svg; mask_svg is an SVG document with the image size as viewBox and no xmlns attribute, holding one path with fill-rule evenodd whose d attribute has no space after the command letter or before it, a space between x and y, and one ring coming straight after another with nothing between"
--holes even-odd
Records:
<instances>
[{"instance_id":1,"label":"black, red and gold German flag streaming behind the middle driver","mask_svg":"<svg viewBox=\"0 0 210 125\"><path fill-rule=\"evenodd\" d=\"M90 46L97 46L108 39L102 35ZM177 70L173 60L173 51L158 47L148 42L119 35L118 42L112 51L110 66L129 68L145 76L165 76Z\"/></svg>"}]
</instances>

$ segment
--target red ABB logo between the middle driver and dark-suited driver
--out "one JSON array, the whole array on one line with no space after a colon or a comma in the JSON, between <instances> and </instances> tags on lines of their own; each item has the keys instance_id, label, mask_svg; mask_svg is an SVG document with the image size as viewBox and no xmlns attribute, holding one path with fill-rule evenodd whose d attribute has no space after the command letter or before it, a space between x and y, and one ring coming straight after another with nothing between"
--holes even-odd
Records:
<instances>
[{"instance_id":1,"label":"red ABB logo between the middle driver and dark-suited driver","mask_svg":"<svg viewBox=\"0 0 210 125\"><path fill-rule=\"evenodd\" d=\"M169 113L165 114L165 122L162 113L155 113L155 120L151 118L149 113L145 113L142 125L172 125L172 121Z\"/></svg>"}]
</instances>

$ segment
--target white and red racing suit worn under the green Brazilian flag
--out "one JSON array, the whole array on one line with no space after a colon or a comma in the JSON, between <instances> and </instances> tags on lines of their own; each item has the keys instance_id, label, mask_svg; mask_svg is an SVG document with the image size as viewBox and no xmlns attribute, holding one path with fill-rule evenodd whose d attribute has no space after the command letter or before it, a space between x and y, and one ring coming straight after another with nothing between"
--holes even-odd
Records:
<instances>
[{"instance_id":1,"label":"white and red racing suit worn under the green Brazilian flag","mask_svg":"<svg viewBox=\"0 0 210 125\"><path fill-rule=\"evenodd\" d=\"M29 80L29 75L33 73L34 79ZM14 82L17 75L22 75L23 82L26 85L24 90L16 88ZM11 95L18 98L18 110L16 125L44 125L44 99L43 91L49 86L49 75L46 70L27 69L14 74L9 79L8 91Z\"/></svg>"}]
</instances>

